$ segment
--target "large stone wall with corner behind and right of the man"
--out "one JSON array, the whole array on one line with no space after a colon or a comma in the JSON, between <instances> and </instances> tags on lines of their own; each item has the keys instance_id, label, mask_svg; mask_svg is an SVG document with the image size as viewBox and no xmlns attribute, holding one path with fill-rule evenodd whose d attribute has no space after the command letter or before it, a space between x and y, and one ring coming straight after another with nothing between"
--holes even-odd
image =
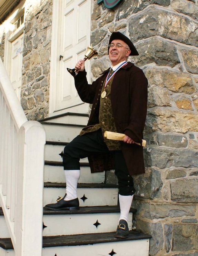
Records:
<instances>
[{"instance_id":1,"label":"large stone wall with corner behind and right of the man","mask_svg":"<svg viewBox=\"0 0 198 256\"><path fill-rule=\"evenodd\" d=\"M131 61L149 81L133 227L152 235L152 256L198 256L198 1L123 0L110 10L93 0L93 80L109 67L109 36L118 30L135 43L140 55Z\"/></svg>"}]
</instances>

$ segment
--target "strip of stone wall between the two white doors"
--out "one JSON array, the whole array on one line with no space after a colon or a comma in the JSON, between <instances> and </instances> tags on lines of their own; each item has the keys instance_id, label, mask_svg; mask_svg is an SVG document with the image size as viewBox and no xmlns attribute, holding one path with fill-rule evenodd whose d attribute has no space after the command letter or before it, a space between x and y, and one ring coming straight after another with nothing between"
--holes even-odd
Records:
<instances>
[{"instance_id":1,"label":"strip of stone wall between the two white doors","mask_svg":"<svg viewBox=\"0 0 198 256\"><path fill-rule=\"evenodd\" d=\"M49 109L52 0L26 2L21 105L29 120L38 120Z\"/></svg>"}]
</instances>

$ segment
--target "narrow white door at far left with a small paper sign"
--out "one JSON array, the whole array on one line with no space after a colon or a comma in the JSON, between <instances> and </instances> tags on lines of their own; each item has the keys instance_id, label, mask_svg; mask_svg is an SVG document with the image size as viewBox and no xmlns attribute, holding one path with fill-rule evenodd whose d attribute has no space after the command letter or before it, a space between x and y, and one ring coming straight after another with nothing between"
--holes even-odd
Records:
<instances>
[{"instance_id":1,"label":"narrow white door at far left with a small paper sign","mask_svg":"<svg viewBox=\"0 0 198 256\"><path fill-rule=\"evenodd\" d=\"M23 34L12 42L10 80L20 100L22 77Z\"/></svg>"}]
</instances>

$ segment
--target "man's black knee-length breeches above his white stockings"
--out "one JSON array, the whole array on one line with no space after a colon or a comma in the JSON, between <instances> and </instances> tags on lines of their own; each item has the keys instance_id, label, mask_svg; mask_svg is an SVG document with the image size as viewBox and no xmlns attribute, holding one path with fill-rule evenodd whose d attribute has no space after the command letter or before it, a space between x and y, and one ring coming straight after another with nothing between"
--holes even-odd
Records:
<instances>
[{"instance_id":1,"label":"man's black knee-length breeches above his white stockings","mask_svg":"<svg viewBox=\"0 0 198 256\"><path fill-rule=\"evenodd\" d=\"M64 170L79 170L79 160L89 157L92 153L109 152L102 136L101 129L78 135L64 148L63 167ZM113 152L115 175L118 177L119 194L123 196L133 195L133 178L129 175L125 159L121 150Z\"/></svg>"}]
</instances>

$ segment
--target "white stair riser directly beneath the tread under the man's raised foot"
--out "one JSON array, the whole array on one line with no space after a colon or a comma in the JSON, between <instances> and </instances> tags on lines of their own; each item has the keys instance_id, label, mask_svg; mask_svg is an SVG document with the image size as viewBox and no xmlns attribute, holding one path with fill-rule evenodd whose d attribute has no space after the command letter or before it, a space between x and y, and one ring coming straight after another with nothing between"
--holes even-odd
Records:
<instances>
[{"instance_id":1,"label":"white stair riser directly beneath the tread under the man's raised foot","mask_svg":"<svg viewBox=\"0 0 198 256\"><path fill-rule=\"evenodd\" d=\"M116 232L120 213L43 215L46 228L43 236L74 235ZM98 222L96 228L94 223ZM132 229L132 213L128 216L129 230Z\"/></svg>"}]
</instances>

